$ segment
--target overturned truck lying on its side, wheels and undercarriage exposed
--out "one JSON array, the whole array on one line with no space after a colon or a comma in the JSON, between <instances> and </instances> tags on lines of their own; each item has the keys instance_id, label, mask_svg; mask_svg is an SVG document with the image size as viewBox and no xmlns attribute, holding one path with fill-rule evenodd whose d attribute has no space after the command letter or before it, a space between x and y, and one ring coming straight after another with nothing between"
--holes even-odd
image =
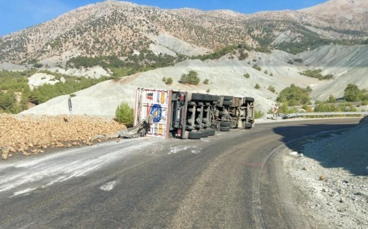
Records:
<instances>
[{"instance_id":1,"label":"overturned truck lying on its side, wheels and undercarriage exposed","mask_svg":"<svg viewBox=\"0 0 368 229\"><path fill-rule=\"evenodd\" d=\"M146 136L200 139L254 126L254 98L137 88L134 125L150 117Z\"/></svg>"}]
</instances>

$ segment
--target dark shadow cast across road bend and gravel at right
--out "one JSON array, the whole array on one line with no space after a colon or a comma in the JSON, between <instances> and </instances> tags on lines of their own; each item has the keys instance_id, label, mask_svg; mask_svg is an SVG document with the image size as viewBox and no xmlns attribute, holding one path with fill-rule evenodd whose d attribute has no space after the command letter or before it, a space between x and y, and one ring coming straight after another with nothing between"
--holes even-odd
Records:
<instances>
[{"instance_id":1,"label":"dark shadow cast across road bend and gravel at right","mask_svg":"<svg viewBox=\"0 0 368 229\"><path fill-rule=\"evenodd\" d=\"M367 164L365 164L367 161L364 161L364 158L367 157L367 152L356 151L352 153L350 151L352 146L349 145L343 145L339 148L336 146L334 147L332 145L334 142L328 140L332 138L331 133L311 136L321 132L343 129L348 131L356 126L357 124L308 124L276 127L274 128L274 132L282 136L281 141L289 149L298 153L303 153L304 156L317 160L326 168L341 167L349 170L354 175L367 175ZM335 135L341 135L344 132L337 132ZM314 142L312 140L314 140ZM337 138L334 141L336 140L339 139Z\"/></svg>"}]
</instances>

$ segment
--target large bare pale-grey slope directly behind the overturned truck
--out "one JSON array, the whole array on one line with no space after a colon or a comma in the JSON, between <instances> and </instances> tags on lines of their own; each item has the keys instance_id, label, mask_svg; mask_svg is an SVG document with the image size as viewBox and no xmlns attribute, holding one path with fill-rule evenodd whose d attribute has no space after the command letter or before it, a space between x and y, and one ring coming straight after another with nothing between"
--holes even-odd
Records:
<instances>
[{"instance_id":1,"label":"large bare pale-grey slope directly behind the overturned truck","mask_svg":"<svg viewBox=\"0 0 368 229\"><path fill-rule=\"evenodd\" d=\"M301 58L303 64L289 60ZM245 61L223 57L219 60L188 60L173 67L156 69L133 76L123 77L118 81L105 81L85 90L78 91L76 97L72 97L73 113L88 114L105 117L114 117L115 108L122 101L134 104L135 89L147 88L172 88L193 92L211 94L251 96L256 99L256 108L267 112L272 107L277 94L267 88L275 86L276 92L294 83L297 86L311 86L313 99L325 99L330 94L336 97L344 93L348 83L355 83L361 89L368 88L368 46L325 46L316 50L301 53L297 56L275 50L272 54L250 52ZM252 66L257 64L262 71L257 71ZM334 80L321 81L316 78L300 76L299 72L307 69L322 69L323 75L333 74ZM201 78L198 85L184 85L179 83L182 74L188 71L196 71ZM268 74L264 71L267 70ZM245 78L245 73L250 78ZM270 76L270 73L273 76ZM172 77L172 85L166 85L163 77ZM208 78L210 83L203 84ZM255 89L258 83L261 88ZM35 106L23 114L68 114L69 95L59 96L46 103Z\"/></svg>"}]
</instances>

